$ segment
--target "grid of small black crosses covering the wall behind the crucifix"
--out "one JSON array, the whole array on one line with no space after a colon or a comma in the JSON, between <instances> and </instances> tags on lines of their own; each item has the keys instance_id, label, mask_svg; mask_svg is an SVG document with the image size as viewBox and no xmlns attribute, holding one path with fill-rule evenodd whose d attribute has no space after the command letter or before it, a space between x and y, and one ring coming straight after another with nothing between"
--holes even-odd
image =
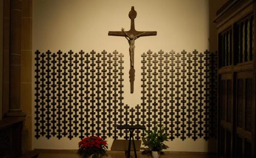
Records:
<instances>
[{"instance_id":1,"label":"grid of small black crosses covering the wall behind the crucifix","mask_svg":"<svg viewBox=\"0 0 256 158\"><path fill-rule=\"evenodd\" d=\"M141 55L141 103L123 103L123 55L35 52L35 138L129 139L119 124L161 126L170 140L215 137L216 54L147 51ZM137 140L145 132L136 130Z\"/></svg>"}]
</instances>

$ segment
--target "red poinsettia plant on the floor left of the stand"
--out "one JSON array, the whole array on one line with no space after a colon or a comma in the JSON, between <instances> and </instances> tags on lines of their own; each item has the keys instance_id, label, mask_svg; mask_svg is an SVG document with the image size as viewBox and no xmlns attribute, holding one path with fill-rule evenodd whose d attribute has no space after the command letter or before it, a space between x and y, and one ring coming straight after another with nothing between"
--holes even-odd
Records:
<instances>
[{"instance_id":1,"label":"red poinsettia plant on the floor left of the stand","mask_svg":"<svg viewBox=\"0 0 256 158\"><path fill-rule=\"evenodd\" d=\"M100 137L86 137L79 143L78 153L83 157L89 157L92 155L93 158L98 158L106 155L108 144Z\"/></svg>"}]
</instances>

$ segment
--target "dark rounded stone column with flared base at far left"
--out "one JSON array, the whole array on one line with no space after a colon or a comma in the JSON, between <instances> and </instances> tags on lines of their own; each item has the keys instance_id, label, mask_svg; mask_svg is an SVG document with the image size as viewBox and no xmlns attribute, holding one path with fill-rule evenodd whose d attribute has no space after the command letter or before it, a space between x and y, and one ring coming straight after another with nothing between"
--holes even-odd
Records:
<instances>
[{"instance_id":1,"label":"dark rounded stone column with flared base at far left","mask_svg":"<svg viewBox=\"0 0 256 158\"><path fill-rule=\"evenodd\" d=\"M7 117L26 116L20 109L20 48L22 1L10 1L10 87Z\"/></svg>"}]
</instances>

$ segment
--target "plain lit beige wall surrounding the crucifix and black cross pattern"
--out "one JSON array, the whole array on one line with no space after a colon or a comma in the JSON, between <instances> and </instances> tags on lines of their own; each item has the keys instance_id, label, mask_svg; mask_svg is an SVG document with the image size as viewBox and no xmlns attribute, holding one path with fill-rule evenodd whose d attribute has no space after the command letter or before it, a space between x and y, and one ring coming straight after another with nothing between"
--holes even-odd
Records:
<instances>
[{"instance_id":1,"label":"plain lit beige wall surrounding the crucifix and black cross pattern","mask_svg":"<svg viewBox=\"0 0 256 158\"><path fill-rule=\"evenodd\" d=\"M129 45L124 37L108 36L108 31L130 30L128 13L135 7L137 17L135 29L138 31L157 31L157 36L142 37L136 40L135 48L135 92L130 94L129 82ZM124 100L125 104L135 107L140 104L140 56L151 49L159 51L204 51L209 48L209 2L206 0L183 1L33 1L32 51L68 52L94 49L101 52L115 49L124 57ZM34 54L32 59L34 59ZM34 62L34 61L33 61ZM34 63L32 63L34 65ZM34 83L32 69L32 83ZM32 90L34 89L32 84ZM32 104L34 104L32 95ZM34 117L32 117L34 118ZM34 124L34 123L32 123ZM33 130L34 131L34 130ZM34 136L34 135L33 135ZM57 140L33 138L33 148L77 149L79 139ZM112 139L108 139L109 145ZM168 142L172 151L209 151L208 142L203 139L185 141L175 139Z\"/></svg>"}]
</instances>

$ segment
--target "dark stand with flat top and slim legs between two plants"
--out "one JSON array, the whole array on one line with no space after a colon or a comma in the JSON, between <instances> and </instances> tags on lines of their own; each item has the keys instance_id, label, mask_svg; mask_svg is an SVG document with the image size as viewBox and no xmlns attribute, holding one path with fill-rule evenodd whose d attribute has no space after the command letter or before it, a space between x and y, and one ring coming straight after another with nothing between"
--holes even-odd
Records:
<instances>
[{"instance_id":1,"label":"dark stand with flat top and slim legs between two plants","mask_svg":"<svg viewBox=\"0 0 256 158\"><path fill-rule=\"evenodd\" d=\"M146 129L145 126L143 125L117 125L117 129L129 129L130 131L130 137L129 137L129 146L128 146L128 151L127 151L127 158L130 158L131 155L131 141L133 139L133 148L134 148L134 155L135 158L137 158L137 153L136 153L136 146L133 138L133 132L135 129Z\"/></svg>"}]
</instances>

